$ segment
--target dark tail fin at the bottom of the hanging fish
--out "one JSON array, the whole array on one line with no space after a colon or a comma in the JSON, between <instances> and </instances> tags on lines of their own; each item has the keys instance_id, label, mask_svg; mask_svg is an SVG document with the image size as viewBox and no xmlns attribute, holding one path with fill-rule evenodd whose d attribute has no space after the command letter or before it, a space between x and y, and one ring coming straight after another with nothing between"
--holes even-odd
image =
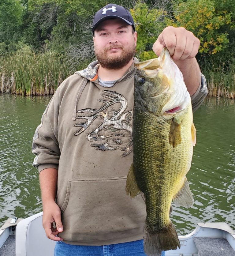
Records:
<instances>
[{"instance_id":1,"label":"dark tail fin at the bottom of the hanging fish","mask_svg":"<svg viewBox=\"0 0 235 256\"><path fill-rule=\"evenodd\" d=\"M176 250L180 248L180 241L173 223L170 221L169 226L153 232L147 225L144 227L144 252L147 255L160 256L162 251Z\"/></svg>"}]
</instances>

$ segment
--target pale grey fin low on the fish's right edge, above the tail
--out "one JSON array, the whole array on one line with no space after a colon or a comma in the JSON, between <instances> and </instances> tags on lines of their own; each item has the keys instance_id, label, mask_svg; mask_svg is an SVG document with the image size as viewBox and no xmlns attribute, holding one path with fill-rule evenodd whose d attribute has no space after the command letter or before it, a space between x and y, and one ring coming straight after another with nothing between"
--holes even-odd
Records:
<instances>
[{"instance_id":1,"label":"pale grey fin low on the fish's right edge, above the tail","mask_svg":"<svg viewBox=\"0 0 235 256\"><path fill-rule=\"evenodd\" d=\"M175 203L175 205L177 207L183 206L183 207L189 208L189 207L193 206L193 201L194 201L194 199L192 197L192 192L190 190L190 187L188 186L188 180L185 177L184 185L174 195L173 202Z\"/></svg>"}]
</instances>

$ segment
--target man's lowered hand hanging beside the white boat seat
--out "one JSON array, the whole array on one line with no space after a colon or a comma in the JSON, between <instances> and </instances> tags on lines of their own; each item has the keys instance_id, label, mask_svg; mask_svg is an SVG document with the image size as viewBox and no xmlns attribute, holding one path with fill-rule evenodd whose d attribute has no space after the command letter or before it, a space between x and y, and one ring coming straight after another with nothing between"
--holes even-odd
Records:
<instances>
[{"instance_id":1,"label":"man's lowered hand hanging beside the white boat seat","mask_svg":"<svg viewBox=\"0 0 235 256\"><path fill-rule=\"evenodd\" d=\"M53 228L53 222L55 222L56 228ZM54 241L63 241L62 238L56 236L63 231L63 225L61 222L61 211L55 201L43 205L43 228L49 239Z\"/></svg>"}]
</instances>

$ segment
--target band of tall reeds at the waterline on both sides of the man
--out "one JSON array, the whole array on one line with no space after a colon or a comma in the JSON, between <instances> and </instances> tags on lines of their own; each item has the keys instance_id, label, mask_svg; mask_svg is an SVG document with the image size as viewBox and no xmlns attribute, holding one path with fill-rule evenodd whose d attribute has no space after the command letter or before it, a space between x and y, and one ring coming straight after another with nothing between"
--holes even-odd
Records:
<instances>
[{"instance_id":1,"label":"band of tall reeds at the waterline on both sides of the man","mask_svg":"<svg viewBox=\"0 0 235 256\"><path fill-rule=\"evenodd\" d=\"M62 81L87 67L88 61L74 65L65 55L35 53L22 49L0 55L0 93L52 95ZM208 96L235 99L235 57L206 59L200 64L207 79Z\"/></svg>"}]
</instances>

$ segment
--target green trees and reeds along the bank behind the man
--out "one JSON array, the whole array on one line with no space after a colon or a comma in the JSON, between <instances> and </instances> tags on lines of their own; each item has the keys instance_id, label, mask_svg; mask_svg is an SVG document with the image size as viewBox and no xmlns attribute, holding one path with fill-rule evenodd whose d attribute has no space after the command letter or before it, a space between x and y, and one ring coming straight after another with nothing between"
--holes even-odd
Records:
<instances>
[{"instance_id":1,"label":"green trees and reeds along the bank behind the man","mask_svg":"<svg viewBox=\"0 0 235 256\"><path fill-rule=\"evenodd\" d=\"M93 54L92 19L107 3L107 0L0 0L0 75L4 78L0 92L53 93L74 72L71 63L76 62L76 54L84 56L82 66L76 69L87 66L85 62ZM139 60L156 57L152 45L167 25L183 26L201 41L201 67L210 77L209 84L220 88L218 91L224 88L231 97L235 89L226 86L235 84L234 0L116 0L114 3L130 9L134 18ZM83 55L84 51L87 54ZM208 64L210 60L214 66ZM217 86L219 78L227 83L224 87Z\"/></svg>"}]
</instances>

